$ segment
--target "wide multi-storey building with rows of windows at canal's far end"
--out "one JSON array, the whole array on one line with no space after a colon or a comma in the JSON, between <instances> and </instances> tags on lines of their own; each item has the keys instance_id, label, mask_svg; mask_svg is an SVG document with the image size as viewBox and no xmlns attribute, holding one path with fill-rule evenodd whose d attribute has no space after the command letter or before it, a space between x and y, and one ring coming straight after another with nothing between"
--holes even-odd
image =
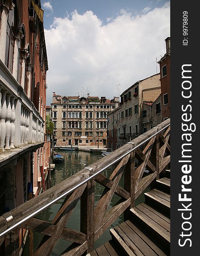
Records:
<instances>
[{"instance_id":1,"label":"wide multi-storey building with rows of windows at canal's far end","mask_svg":"<svg viewBox=\"0 0 200 256\"><path fill-rule=\"evenodd\" d=\"M60 96L53 93L54 145L107 145L107 115L119 105L119 97Z\"/></svg>"}]
</instances>

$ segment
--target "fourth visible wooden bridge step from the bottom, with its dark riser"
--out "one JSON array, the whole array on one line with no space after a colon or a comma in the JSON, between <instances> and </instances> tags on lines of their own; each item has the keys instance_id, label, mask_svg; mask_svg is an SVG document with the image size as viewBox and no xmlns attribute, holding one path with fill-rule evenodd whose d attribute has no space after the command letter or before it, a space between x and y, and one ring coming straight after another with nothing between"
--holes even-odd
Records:
<instances>
[{"instance_id":1,"label":"fourth visible wooden bridge step from the bottom, with its dark riser","mask_svg":"<svg viewBox=\"0 0 200 256\"><path fill-rule=\"evenodd\" d=\"M166 193L152 190L144 193L144 196L146 204L170 218L170 198Z\"/></svg>"}]
</instances>

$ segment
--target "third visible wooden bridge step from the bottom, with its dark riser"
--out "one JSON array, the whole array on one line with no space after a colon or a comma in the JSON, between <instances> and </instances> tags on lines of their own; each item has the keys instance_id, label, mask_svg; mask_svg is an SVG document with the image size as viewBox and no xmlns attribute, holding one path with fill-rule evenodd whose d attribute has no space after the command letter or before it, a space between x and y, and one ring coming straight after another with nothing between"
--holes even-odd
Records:
<instances>
[{"instance_id":1,"label":"third visible wooden bridge step from the bottom, with its dark riser","mask_svg":"<svg viewBox=\"0 0 200 256\"><path fill-rule=\"evenodd\" d=\"M132 223L168 254L170 251L170 224L164 220L165 216L161 218L159 212L155 214L143 205L130 209L130 212Z\"/></svg>"}]
</instances>

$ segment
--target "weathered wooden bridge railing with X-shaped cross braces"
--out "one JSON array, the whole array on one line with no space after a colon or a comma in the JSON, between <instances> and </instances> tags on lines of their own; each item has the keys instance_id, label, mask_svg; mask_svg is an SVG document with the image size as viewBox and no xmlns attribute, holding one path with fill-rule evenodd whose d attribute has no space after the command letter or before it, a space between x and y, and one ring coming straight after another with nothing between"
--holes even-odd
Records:
<instances>
[{"instance_id":1,"label":"weathered wooden bridge railing with X-shaped cross braces","mask_svg":"<svg viewBox=\"0 0 200 256\"><path fill-rule=\"evenodd\" d=\"M29 246L30 256L50 255L58 239L72 242L62 256L78 256L93 250L94 242L123 212L124 218L128 218L129 209L134 207L135 199L169 166L169 142L170 119L167 119L41 195L1 216L0 238L8 233L14 236L11 239L9 255L17 255L12 254L17 252L17 242L14 243L17 240L17 232L12 230L19 228L29 230L29 245L33 243L33 231L45 235L36 251L33 251L33 246ZM108 168L112 169L111 172L104 172ZM149 172L145 172L144 175L145 170ZM124 186L120 186L121 179L124 179ZM97 204L94 204L95 183L104 187ZM110 202L114 194L121 199L111 207ZM64 201L53 221L34 218L61 198L64 198ZM77 231L69 229L66 224L79 200L80 231Z\"/></svg>"}]
</instances>

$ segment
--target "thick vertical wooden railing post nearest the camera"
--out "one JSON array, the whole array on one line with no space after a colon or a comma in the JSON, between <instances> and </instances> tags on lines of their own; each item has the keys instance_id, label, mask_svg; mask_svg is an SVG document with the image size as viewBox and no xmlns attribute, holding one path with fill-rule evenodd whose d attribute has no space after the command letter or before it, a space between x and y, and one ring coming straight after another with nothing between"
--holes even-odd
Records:
<instances>
[{"instance_id":1,"label":"thick vertical wooden railing post nearest the camera","mask_svg":"<svg viewBox=\"0 0 200 256\"><path fill-rule=\"evenodd\" d=\"M87 182L80 201L80 231L87 236L87 253L94 249L94 179Z\"/></svg>"}]
</instances>

